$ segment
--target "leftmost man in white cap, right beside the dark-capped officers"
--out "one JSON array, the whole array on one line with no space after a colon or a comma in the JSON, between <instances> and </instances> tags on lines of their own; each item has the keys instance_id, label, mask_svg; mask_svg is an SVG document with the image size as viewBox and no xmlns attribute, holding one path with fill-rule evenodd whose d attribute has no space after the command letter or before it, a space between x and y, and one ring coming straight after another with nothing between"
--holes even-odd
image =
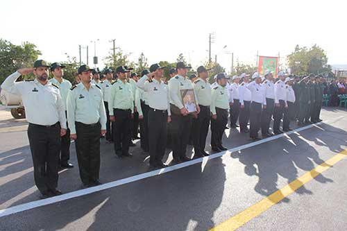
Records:
<instances>
[{"instance_id":1,"label":"leftmost man in white cap, right beside the dark-capped officers","mask_svg":"<svg viewBox=\"0 0 347 231\"><path fill-rule=\"evenodd\" d=\"M230 127L237 128L237 119L239 118L239 76L232 76L232 84L229 89L230 103Z\"/></svg>"}]
</instances>

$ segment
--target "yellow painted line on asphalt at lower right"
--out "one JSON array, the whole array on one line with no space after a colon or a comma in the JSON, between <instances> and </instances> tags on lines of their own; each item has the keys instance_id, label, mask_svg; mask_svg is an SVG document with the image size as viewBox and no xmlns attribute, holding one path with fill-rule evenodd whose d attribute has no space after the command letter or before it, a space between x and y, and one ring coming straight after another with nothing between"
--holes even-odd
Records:
<instances>
[{"instance_id":1,"label":"yellow painted line on asphalt at lower right","mask_svg":"<svg viewBox=\"0 0 347 231\"><path fill-rule=\"evenodd\" d=\"M312 169L311 171L308 171L307 173L303 174L303 176L290 182L289 185L283 187L282 189L278 189L278 191L275 191L270 196L260 200L255 205L248 207L243 212L240 212L239 214L228 219L227 221L224 221L220 225L217 225L216 227L212 228L211 231L236 230L248 221L254 219L256 216L259 216L260 214L265 212L271 206L276 205L278 202L280 202L280 200L283 200L290 194L294 193L294 191L296 191L301 186L305 185L307 182L309 182L316 176L319 176L319 174L323 173L323 171L329 169L330 166L344 159L346 155L347 149L341 151L341 153L337 155L334 155L322 164L319 164L319 166L316 166L316 168Z\"/></svg>"}]
</instances>

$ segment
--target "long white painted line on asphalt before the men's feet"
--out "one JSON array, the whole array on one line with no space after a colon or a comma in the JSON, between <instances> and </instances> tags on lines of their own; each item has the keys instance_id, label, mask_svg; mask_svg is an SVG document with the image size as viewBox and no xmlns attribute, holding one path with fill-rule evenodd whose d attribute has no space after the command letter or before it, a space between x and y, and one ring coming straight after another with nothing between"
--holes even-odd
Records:
<instances>
[{"instance_id":1,"label":"long white painted line on asphalt before the men's feet","mask_svg":"<svg viewBox=\"0 0 347 231\"><path fill-rule=\"evenodd\" d=\"M337 117L333 122L338 121L339 119L342 119L342 118L343 117ZM328 122L331 122L331 121L328 121ZM105 183L103 185L99 185L99 186L96 186L96 187L90 187L90 188L87 188L87 189L71 191L71 192L69 192L67 194L62 194L60 196L54 196L54 197L46 198L46 199L43 199L43 200L35 200L35 201L29 202L29 203L24 203L22 205L16 205L16 206L13 206L13 207L8 207L6 209L1 209L0 210L0 217L8 216L10 214L15 214L17 212L23 212L23 211L26 211L28 209L33 209L35 207L41 207L41 206L44 206L44 205L50 205L50 204L57 203L57 202L62 201L62 200L69 200L71 198L76 198L78 196L84 196L84 195L87 195L87 194L92 194L92 193L94 193L96 191L101 191L101 190L104 190L104 189L110 189L112 187L117 187L119 185L125 185L125 184L128 184L130 182L135 182L137 180L143 180L145 178L150 178L152 176L158 176L158 175L161 175L163 173L168 173L170 171L174 171L174 170L177 170L177 169L183 169L186 166L191 166L193 164L197 164L197 163L200 163L200 162L203 162L203 161L205 162L205 161L208 161L208 160L212 160L214 158L221 157L222 155L226 155L227 153L232 153L232 152L240 151L240 150L243 150L243 149L246 149L246 148L251 148L251 147L257 146L259 144L264 144L266 142L270 142L271 140L279 139L281 137L285 137L285 135L291 135L294 132L300 132L302 130L306 130L308 128L312 128L312 127L317 126L317 125L319 125L321 123L323 123L323 122L310 124L308 126L297 128L295 130L291 130L289 132L285 132L285 133L280 134L280 135L275 135L273 137L267 137L265 139L260 139L260 140L258 140L256 142L252 142L250 144L244 144L242 146L237 146L235 148L229 149L228 151L223 151L223 152L220 152L220 153L214 153L214 154L211 154L211 155L209 155L207 157L201 157L201 158L198 158L198 159L195 159L195 160L190 160L189 162L183 162L183 163L176 164L176 165L173 165L173 166L168 166L168 167L166 167L164 169L157 169L157 170L154 170L154 171L149 171L147 173L141 173L141 174L138 174L138 175L135 175L135 176L130 176L128 178L124 178L124 179L121 179L121 180L115 180L115 181L112 181L112 182L108 182L108 183Z\"/></svg>"}]
</instances>

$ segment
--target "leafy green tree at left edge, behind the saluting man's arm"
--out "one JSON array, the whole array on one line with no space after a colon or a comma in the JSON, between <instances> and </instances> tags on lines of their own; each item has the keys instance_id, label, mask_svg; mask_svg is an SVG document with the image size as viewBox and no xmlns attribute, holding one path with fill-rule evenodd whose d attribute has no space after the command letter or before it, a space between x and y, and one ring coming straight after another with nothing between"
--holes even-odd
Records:
<instances>
[{"instance_id":1,"label":"leafy green tree at left edge, behind the saluting man's arm","mask_svg":"<svg viewBox=\"0 0 347 231\"><path fill-rule=\"evenodd\" d=\"M41 51L36 49L35 44L23 42L18 46L0 39L0 83L17 69L33 67L39 55ZM32 75L24 76L24 78L28 77Z\"/></svg>"}]
</instances>

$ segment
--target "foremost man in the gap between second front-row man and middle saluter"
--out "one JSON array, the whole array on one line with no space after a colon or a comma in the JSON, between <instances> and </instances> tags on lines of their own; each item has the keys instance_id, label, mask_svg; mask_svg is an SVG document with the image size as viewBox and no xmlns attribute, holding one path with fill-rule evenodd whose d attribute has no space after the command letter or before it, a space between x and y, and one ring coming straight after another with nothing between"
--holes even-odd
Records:
<instances>
[{"instance_id":1,"label":"foremost man in the gap between second front-row man and middle saluter","mask_svg":"<svg viewBox=\"0 0 347 231\"><path fill-rule=\"evenodd\" d=\"M129 153L131 142L131 129L134 112L134 99L131 86L126 80L129 70L123 66L117 67L117 80L112 83L110 97L108 99L108 110L110 121L113 123L113 139L115 142L115 154L117 157L133 157Z\"/></svg>"}]
</instances>

